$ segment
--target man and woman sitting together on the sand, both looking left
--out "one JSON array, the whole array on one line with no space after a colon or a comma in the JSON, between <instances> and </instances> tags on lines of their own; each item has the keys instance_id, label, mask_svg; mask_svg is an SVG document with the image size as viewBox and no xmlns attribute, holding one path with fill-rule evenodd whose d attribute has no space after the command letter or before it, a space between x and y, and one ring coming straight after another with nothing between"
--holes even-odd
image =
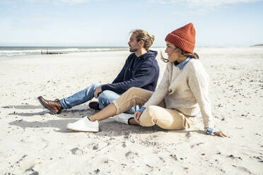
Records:
<instances>
[{"instance_id":1,"label":"man and woman sitting together on the sand, both looking left","mask_svg":"<svg viewBox=\"0 0 263 175\"><path fill-rule=\"evenodd\" d=\"M55 101L40 96L40 103L52 114L60 114L62 109L98 98L98 102L90 102L89 107L100 111L75 123L68 123L66 128L72 131L98 132L98 121L110 116L125 124L158 125L168 130L182 130L190 128L201 111L206 133L225 137L222 131L214 128L208 97L209 75L199 56L194 53L194 25L189 23L165 37L168 59L163 56L162 59L168 64L157 90L157 52L149 50L153 40L154 36L144 30L131 31L128 44L129 51L134 53L129 55L112 83L93 84L70 97Z\"/></svg>"}]
</instances>

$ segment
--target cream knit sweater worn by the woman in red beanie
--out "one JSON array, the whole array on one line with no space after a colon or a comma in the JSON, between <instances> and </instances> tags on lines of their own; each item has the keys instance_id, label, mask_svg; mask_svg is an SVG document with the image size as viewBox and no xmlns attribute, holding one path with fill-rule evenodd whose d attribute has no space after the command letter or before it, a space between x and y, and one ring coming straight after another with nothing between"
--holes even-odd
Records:
<instances>
[{"instance_id":1,"label":"cream knit sweater worn by the woman in red beanie","mask_svg":"<svg viewBox=\"0 0 263 175\"><path fill-rule=\"evenodd\" d=\"M163 99L167 109L177 109L187 116L201 110L204 130L214 128L209 100L209 75L198 59L190 59L182 70L168 63L156 92L144 107L158 105Z\"/></svg>"}]
</instances>

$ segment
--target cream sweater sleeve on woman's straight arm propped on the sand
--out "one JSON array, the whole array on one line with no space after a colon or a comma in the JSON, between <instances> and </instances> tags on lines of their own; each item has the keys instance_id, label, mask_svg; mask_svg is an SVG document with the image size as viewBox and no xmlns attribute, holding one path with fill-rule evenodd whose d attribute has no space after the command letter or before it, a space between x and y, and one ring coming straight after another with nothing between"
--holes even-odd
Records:
<instances>
[{"instance_id":1,"label":"cream sweater sleeve on woman's straight arm propped on the sand","mask_svg":"<svg viewBox=\"0 0 263 175\"><path fill-rule=\"evenodd\" d=\"M209 100L209 75L199 62L194 64L192 71L189 72L189 87L199 104L204 130L206 131L207 128L214 128L211 102Z\"/></svg>"}]
</instances>

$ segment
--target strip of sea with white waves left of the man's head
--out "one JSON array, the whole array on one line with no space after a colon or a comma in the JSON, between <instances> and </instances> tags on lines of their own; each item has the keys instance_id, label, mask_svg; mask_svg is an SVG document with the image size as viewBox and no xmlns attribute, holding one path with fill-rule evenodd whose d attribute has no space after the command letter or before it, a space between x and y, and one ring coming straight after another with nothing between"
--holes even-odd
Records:
<instances>
[{"instance_id":1,"label":"strip of sea with white waves left of the man's head","mask_svg":"<svg viewBox=\"0 0 263 175\"><path fill-rule=\"evenodd\" d=\"M68 54L72 52L125 51L129 47L0 47L0 57L40 54Z\"/></svg>"}]
</instances>

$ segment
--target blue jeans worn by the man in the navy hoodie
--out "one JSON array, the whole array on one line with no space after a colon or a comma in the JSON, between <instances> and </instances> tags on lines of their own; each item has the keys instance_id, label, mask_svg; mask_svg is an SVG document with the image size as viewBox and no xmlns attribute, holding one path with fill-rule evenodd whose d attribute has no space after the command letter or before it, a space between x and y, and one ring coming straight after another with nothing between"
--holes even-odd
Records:
<instances>
[{"instance_id":1,"label":"blue jeans worn by the man in the navy hoodie","mask_svg":"<svg viewBox=\"0 0 263 175\"><path fill-rule=\"evenodd\" d=\"M88 102L90 99L93 99L95 90L100 86L101 86L100 84L90 85L86 89L76 92L76 94L71 95L70 97L61 99L59 102L60 104L62 104L62 107L64 109L71 109L71 107L74 107L78 104L83 104L85 102ZM98 96L98 102L99 102L100 109L107 107L107 105L109 105L119 96L120 96L119 94L111 90L105 90L101 92L100 95ZM125 111L125 113L134 114L134 111L137 111L137 110L139 110L139 107L134 106L134 107L131 107L131 109L128 109L127 111Z\"/></svg>"}]
</instances>

